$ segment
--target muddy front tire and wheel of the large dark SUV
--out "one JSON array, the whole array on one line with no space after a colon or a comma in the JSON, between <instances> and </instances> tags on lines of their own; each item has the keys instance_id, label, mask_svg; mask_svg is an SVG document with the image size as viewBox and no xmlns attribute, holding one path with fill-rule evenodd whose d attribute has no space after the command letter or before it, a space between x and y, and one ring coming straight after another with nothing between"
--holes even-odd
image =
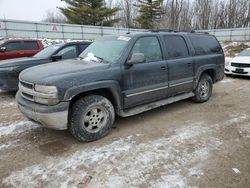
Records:
<instances>
[{"instance_id":1,"label":"muddy front tire and wheel of the large dark SUV","mask_svg":"<svg viewBox=\"0 0 250 188\"><path fill-rule=\"evenodd\" d=\"M113 126L115 111L103 96L89 95L72 106L69 130L79 141L94 141L106 136Z\"/></svg>"}]
</instances>

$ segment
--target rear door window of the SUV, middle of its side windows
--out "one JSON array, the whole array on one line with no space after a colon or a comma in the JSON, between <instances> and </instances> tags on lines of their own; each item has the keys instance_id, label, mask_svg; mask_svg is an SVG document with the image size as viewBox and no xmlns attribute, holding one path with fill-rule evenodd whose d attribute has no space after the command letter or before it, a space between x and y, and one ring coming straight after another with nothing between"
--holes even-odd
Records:
<instances>
[{"instance_id":1,"label":"rear door window of the SUV, middle of its side windows","mask_svg":"<svg viewBox=\"0 0 250 188\"><path fill-rule=\"evenodd\" d=\"M164 36L169 59L189 56L187 44L181 36Z\"/></svg>"}]
</instances>

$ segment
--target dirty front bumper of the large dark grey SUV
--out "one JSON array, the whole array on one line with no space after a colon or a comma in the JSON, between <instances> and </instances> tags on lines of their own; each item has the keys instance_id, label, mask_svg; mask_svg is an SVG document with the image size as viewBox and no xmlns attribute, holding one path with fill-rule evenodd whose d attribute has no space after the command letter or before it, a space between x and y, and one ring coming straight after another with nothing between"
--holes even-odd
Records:
<instances>
[{"instance_id":1,"label":"dirty front bumper of the large dark grey SUV","mask_svg":"<svg viewBox=\"0 0 250 188\"><path fill-rule=\"evenodd\" d=\"M18 108L27 118L51 129L68 128L69 102L61 102L53 106L41 105L24 99L20 92L17 93L16 100Z\"/></svg>"}]
</instances>

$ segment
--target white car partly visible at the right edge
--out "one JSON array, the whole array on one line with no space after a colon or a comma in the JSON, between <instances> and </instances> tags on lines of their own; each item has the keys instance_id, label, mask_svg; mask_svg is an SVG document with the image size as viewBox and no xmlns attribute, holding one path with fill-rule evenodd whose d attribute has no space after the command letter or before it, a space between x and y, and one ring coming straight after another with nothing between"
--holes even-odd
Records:
<instances>
[{"instance_id":1,"label":"white car partly visible at the right edge","mask_svg":"<svg viewBox=\"0 0 250 188\"><path fill-rule=\"evenodd\" d=\"M250 76L250 48L225 63L225 74Z\"/></svg>"}]
</instances>

